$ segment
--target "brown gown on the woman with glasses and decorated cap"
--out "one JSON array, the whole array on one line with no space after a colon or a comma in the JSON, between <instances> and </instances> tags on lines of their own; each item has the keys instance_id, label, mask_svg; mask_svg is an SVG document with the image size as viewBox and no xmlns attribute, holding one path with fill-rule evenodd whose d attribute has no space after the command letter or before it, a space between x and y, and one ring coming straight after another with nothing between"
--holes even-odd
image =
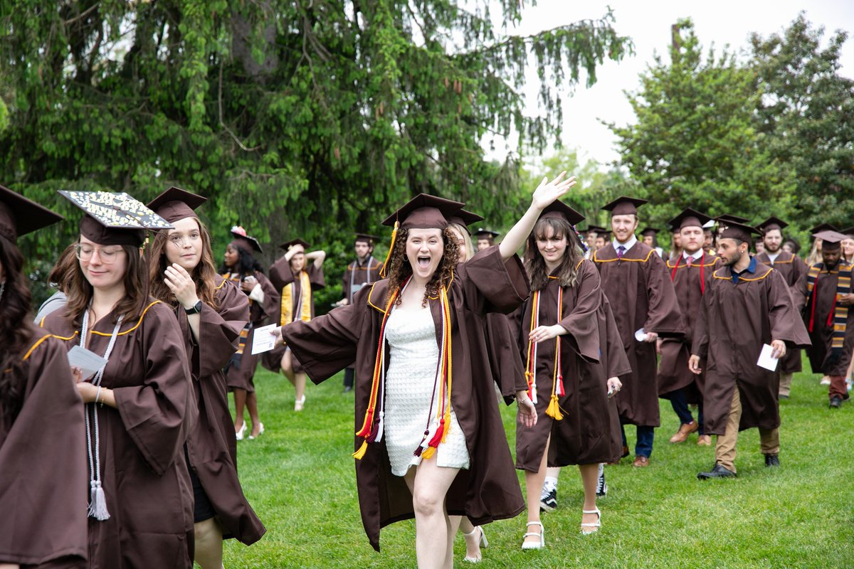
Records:
<instances>
[{"instance_id":1,"label":"brown gown on the woman with glasses and decorated cap","mask_svg":"<svg viewBox=\"0 0 854 569\"><path fill-rule=\"evenodd\" d=\"M89 519L92 569L192 566L193 489L184 460L195 421L190 370L173 311L149 302L143 316L122 322L102 378L117 408L97 407L110 517ZM67 309L46 316L43 326L68 350L79 344ZM102 355L113 328L110 313L96 322L87 347ZM75 448L85 457L85 440Z\"/></svg>"}]
</instances>

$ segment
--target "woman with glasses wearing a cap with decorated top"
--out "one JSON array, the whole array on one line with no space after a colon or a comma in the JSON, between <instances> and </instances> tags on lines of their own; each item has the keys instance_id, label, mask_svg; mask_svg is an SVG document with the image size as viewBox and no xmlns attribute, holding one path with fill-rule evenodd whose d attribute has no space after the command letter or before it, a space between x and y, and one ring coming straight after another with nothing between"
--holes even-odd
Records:
<instances>
[{"instance_id":1,"label":"woman with glasses wearing a cap with decorated top","mask_svg":"<svg viewBox=\"0 0 854 569\"><path fill-rule=\"evenodd\" d=\"M87 214L80 221L79 265L65 308L42 327L71 350L108 363L91 379L77 374L87 434L89 566L193 564L193 489L184 442L195 402L184 340L173 311L152 299L140 255L144 233L168 227L126 194L61 192ZM97 216L97 217L96 217ZM117 228L118 226L118 228Z\"/></svg>"}]
</instances>

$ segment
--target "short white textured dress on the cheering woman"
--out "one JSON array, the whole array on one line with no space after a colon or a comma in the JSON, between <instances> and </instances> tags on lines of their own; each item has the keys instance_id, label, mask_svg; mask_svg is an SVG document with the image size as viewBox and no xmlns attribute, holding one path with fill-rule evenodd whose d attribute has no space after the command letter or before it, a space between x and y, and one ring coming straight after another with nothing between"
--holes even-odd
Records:
<instances>
[{"instance_id":1,"label":"short white textured dress on the cheering woman","mask_svg":"<svg viewBox=\"0 0 854 569\"><path fill-rule=\"evenodd\" d=\"M418 311L395 309L386 323L386 340L390 346L389 369L385 377L385 427L383 438L389 452L391 472L403 476L411 465L421 462L412 453L424 438L424 427L430 416L430 432L436 427L436 406L439 393L436 386L436 365L439 345L430 308ZM430 397L433 411L430 415ZM468 468L469 451L465 434L459 428L457 415L451 408L451 430L436 450L440 467Z\"/></svg>"}]
</instances>

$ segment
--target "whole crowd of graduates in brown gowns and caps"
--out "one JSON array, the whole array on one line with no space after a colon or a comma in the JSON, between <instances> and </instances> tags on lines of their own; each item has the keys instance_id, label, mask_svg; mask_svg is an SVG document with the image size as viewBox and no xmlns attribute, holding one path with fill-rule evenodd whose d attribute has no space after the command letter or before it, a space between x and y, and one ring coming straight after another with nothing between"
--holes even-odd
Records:
<instances>
[{"instance_id":1,"label":"whole crowd of graduates in brown gowns and caps","mask_svg":"<svg viewBox=\"0 0 854 569\"><path fill-rule=\"evenodd\" d=\"M422 569L453 566L458 531L481 560L483 525L523 512L513 547L546 547L562 467L582 479L579 531L599 531L606 465L631 454L634 426L633 465L649 466L659 398L681 425L670 444L715 445L699 479L736 476L746 428L780 467L801 349L831 408L849 398L854 228L814 228L804 261L781 219L686 207L665 253L658 229L638 231L646 200L613 200L610 228L579 231L560 200L575 183L544 179L497 244L472 235L483 218L466 204L415 196L383 221L383 262L380 238L356 234L323 316L324 251L294 239L265 268L235 226L218 268L205 198L178 188L147 205L61 192L84 212L79 237L33 315L16 242L61 217L0 186L0 567L218 569L225 538L258 541L237 478L237 441L265 432L258 363L304 412L307 378L344 370L366 535L378 550L384 525L414 518ZM514 402L515 464L500 416Z\"/></svg>"}]
</instances>

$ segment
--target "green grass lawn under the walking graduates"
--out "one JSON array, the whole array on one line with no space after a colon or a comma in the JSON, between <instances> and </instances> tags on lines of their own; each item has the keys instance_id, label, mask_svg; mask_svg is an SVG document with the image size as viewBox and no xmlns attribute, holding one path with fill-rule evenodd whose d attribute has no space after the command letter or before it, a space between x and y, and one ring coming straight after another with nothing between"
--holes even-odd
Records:
<instances>
[{"instance_id":1,"label":"green grass lawn under the walking graduates","mask_svg":"<svg viewBox=\"0 0 854 569\"><path fill-rule=\"evenodd\" d=\"M251 547L229 540L226 567L416 566L412 521L383 529L381 553L362 531L350 456L353 395L342 394L341 378L308 386L306 409L295 413L288 381L259 368L266 433L237 451L243 489L267 533ZM781 404L781 467L764 467L752 429L739 438L739 477L701 482L696 474L714 464L714 447L698 447L696 434L668 443L678 420L663 401L650 467L623 459L605 469L610 490L599 501L598 534L579 535L581 479L566 468L559 508L543 514L546 549L520 549L523 514L486 526L479 567L854 567L854 404L831 410L827 402L827 387L799 374ZM513 449L515 405L502 412ZM633 448L634 428L628 432ZM458 535L455 566L469 566L464 555Z\"/></svg>"}]
</instances>

